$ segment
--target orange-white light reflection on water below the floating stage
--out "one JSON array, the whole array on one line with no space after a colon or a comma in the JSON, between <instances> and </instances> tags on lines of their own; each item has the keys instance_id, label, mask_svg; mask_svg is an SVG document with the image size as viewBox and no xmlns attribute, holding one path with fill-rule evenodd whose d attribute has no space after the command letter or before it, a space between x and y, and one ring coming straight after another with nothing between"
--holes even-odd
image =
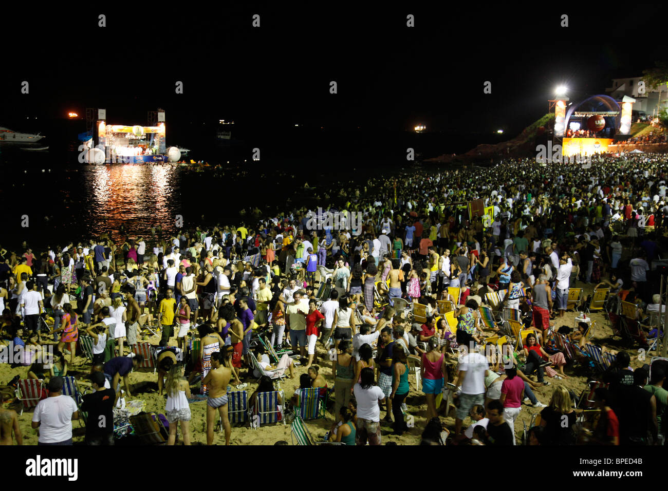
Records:
<instances>
[{"instance_id":1,"label":"orange-white light reflection on water below the floating stage","mask_svg":"<svg viewBox=\"0 0 668 491\"><path fill-rule=\"evenodd\" d=\"M111 231L118 236L123 225L132 234L146 234L152 226L175 230L180 209L180 174L174 166L112 164L83 170L87 200L83 218L90 233Z\"/></svg>"}]
</instances>

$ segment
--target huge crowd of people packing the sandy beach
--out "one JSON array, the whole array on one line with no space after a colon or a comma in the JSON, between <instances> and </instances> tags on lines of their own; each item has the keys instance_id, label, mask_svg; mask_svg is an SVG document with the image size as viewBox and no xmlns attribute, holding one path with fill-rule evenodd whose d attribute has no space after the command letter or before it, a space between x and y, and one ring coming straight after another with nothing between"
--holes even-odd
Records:
<instances>
[{"instance_id":1,"label":"huge crowd of people packing the sandy beach","mask_svg":"<svg viewBox=\"0 0 668 491\"><path fill-rule=\"evenodd\" d=\"M338 218L337 229L302 207L271 218L255 210L244 215L253 215L252 222L173 234L158 227L146 239L119 230L39 251L25 242L18 251L0 247L0 337L25 353L50 347L50 359L27 363L27 376L45 381L48 389L32 416L40 444L71 444L71 419L79 411L89 414L87 444L113 444L113 426L97 426L90 414L113 422L116 401L131 395L129 373L143 361L132 347L156 333L160 342L152 356L158 389L168 395L170 444L177 425L190 444L188 399L198 374L207 442L214 441L218 414L229 444L228 385L242 390L260 377L256 393L271 391L267 375L276 371L300 373L300 387L318 387L323 397L333 384L328 438L380 444L382 424L393 423L399 436L407 430L411 364L422 367L425 444L515 444L522 404L545 406L532 392L550 385L545 375L554 380L554 391L530 442L582 443L587 425L576 424L573 409L580 394L558 383L570 366L550 344L550 323L564 315L569 288L578 281L611 289L611 309L625 299L639 317L665 310L651 265L664 247L666 164L662 154L599 156L591 168L506 159L490 168L420 170L371 178L348 192L342 188L327 206ZM325 190L322 195L329 198ZM482 208L474 208L478 200ZM323 288L328 277L331 291ZM449 288L460 289L460 296ZM489 305L488 293L498 292L505 294L502 307L529 319L533 334L516 356L506 350L496 359L476 347L498 337L498 325L486 331L479 310ZM442 300L452 302L456 335L437 307ZM424 323L415 322L414 307L405 308L411 303L425 306ZM590 342L586 330L569 337L584 345ZM299 354L302 363L297 366L287 352L272 363L253 343L257 333L267 334L277 349ZM82 335L94 341L90 369L75 358ZM190 339L200 340L200 351L190 353L184 366L182 355L193 351ZM641 332L634 348L649 349L649 339L649 332ZM470 349L456 352L458 345ZM512 345L501 348L513 351ZM327 349L333 350L329 379L318 365ZM648 380L647 367L631 371L625 351L615 356L597 377L601 417L587 441L663 442L667 367L653 365ZM80 380L94 389L85 407L62 395L62 377L75 369L91 373ZM7 383L3 398L11 399L16 383L17 377ZM457 387L458 409L454 428L446 429L440 418L448 383ZM472 424L465 429L468 418ZM0 441L11 444L13 432L20 443L15 412L3 409L0 421Z\"/></svg>"}]
</instances>

